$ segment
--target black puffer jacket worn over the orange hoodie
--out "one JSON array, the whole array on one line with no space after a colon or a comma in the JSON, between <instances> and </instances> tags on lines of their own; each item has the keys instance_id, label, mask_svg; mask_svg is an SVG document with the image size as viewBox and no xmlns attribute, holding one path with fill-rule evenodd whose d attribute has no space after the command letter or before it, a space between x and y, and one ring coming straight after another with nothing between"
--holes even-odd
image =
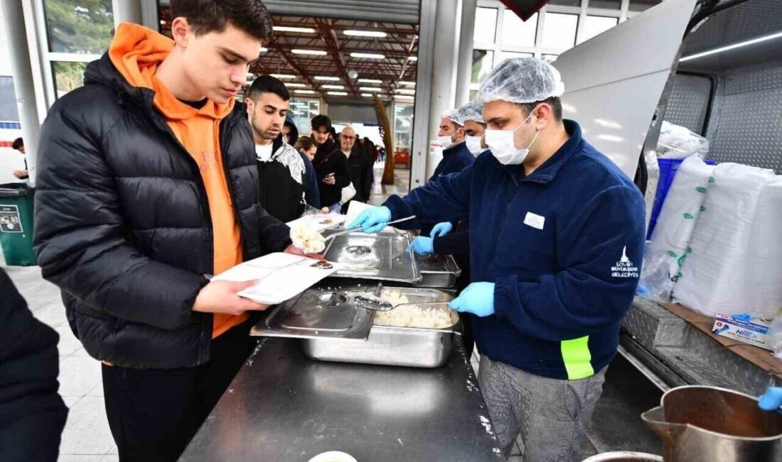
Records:
<instances>
[{"instance_id":1,"label":"black puffer jacket worn over the orange hoodie","mask_svg":"<svg viewBox=\"0 0 782 462\"><path fill-rule=\"evenodd\" d=\"M210 357L211 314L192 312L212 273L209 203L195 160L108 56L59 98L41 129L34 248L63 289L91 356L138 368ZM237 103L220 124L245 260L285 248L289 228L260 206L253 135Z\"/></svg>"}]
</instances>

